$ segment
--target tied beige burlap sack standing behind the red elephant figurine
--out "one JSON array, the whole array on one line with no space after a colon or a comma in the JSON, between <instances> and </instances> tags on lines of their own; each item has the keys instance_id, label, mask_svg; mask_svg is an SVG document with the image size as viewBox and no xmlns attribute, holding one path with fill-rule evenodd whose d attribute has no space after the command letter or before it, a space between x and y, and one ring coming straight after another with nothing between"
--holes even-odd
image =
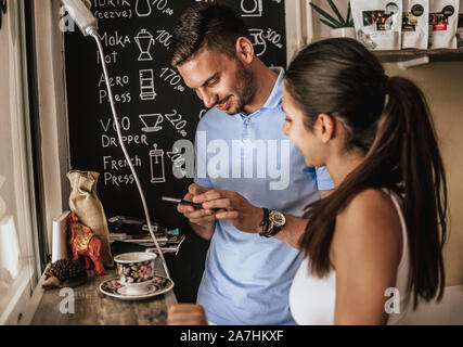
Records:
<instances>
[{"instance_id":1,"label":"tied beige burlap sack standing behind the red elephant figurine","mask_svg":"<svg viewBox=\"0 0 463 347\"><path fill-rule=\"evenodd\" d=\"M103 243L103 265L114 267L111 254L110 230L103 205L97 196L99 172L72 170L67 172L70 182L69 208L81 223L89 227Z\"/></svg>"}]
</instances>

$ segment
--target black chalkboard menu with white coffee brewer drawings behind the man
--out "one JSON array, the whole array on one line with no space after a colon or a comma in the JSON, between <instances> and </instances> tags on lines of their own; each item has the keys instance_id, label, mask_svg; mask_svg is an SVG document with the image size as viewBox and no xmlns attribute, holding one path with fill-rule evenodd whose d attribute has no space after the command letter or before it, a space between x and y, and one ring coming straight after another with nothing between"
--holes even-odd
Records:
<instances>
[{"instance_id":1,"label":"black chalkboard menu with white coffee brewer drawings behind the man","mask_svg":"<svg viewBox=\"0 0 463 347\"><path fill-rule=\"evenodd\" d=\"M163 195L183 197L192 178L178 140L194 143L206 110L169 64L172 26L198 0L91 0L99 20L124 140L151 217L169 228L184 223ZM249 27L256 55L285 66L283 0L229 0ZM98 195L107 217L144 218L139 192L118 145L102 62L93 39L65 34L66 91L73 169L101 174ZM175 171L177 174L175 174Z\"/></svg>"}]
</instances>

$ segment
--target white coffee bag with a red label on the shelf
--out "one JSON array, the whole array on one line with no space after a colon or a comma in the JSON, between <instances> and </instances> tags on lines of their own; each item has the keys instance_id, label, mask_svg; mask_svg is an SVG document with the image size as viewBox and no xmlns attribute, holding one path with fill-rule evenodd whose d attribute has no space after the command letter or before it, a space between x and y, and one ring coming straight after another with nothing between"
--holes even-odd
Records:
<instances>
[{"instance_id":1,"label":"white coffee bag with a red label on the shelf","mask_svg":"<svg viewBox=\"0 0 463 347\"><path fill-rule=\"evenodd\" d=\"M456 49L460 0L429 2L429 48Z\"/></svg>"}]
</instances>

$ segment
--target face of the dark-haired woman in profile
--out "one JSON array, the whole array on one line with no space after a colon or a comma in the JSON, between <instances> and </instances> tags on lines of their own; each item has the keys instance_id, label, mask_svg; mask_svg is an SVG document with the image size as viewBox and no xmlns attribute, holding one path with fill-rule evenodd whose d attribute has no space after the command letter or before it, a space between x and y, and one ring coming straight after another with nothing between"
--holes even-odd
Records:
<instances>
[{"instance_id":1,"label":"face of the dark-haired woman in profile","mask_svg":"<svg viewBox=\"0 0 463 347\"><path fill-rule=\"evenodd\" d=\"M282 108L286 115L283 133L297 145L306 159L306 165L309 167L324 166L326 145L317 136L319 123L316 121L312 129L307 129L304 124L303 111L293 100L286 86L283 87Z\"/></svg>"}]
</instances>

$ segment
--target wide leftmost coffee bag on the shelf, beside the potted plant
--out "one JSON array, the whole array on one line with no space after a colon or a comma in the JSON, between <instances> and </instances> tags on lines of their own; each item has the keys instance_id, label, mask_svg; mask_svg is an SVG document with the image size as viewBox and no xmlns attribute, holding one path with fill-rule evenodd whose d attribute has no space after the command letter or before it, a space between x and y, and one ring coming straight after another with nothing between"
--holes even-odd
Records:
<instances>
[{"instance_id":1,"label":"wide leftmost coffee bag on the shelf, beside the potted plant","mask_svg":"<svg viewBox=\"0 0 463 347\"><path fill-rule=\"evenodd\" d=\"M350 0L357 40L369 50L400 50L402 0Z\"/></svg>"}]
</instances>

